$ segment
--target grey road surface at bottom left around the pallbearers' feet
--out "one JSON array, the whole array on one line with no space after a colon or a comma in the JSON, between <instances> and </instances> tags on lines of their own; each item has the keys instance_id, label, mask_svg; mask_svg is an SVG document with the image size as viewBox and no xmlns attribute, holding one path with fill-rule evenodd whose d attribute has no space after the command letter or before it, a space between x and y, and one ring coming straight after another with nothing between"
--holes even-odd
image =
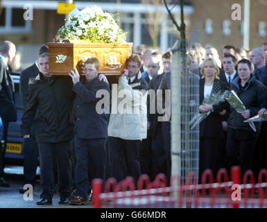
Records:
<instances>
[{"instance_id":1,"label":"grey road surface at bottom left around the pallbearers' feet","mask_svg":"<svg viewBox=\"0 0 267 222\"><path fill-rule=\"evenodd\" d=\"M92 208L92 202L82 206L59 205L58 192L53 196L53 205L36 205L36 201L40 199L42 193L38 180L33 191L33 200L24 200L24 194L19 194L19 188L23 183L22 172L23 167L6 167L6 179L10 182L10 187L0 187L0 208Z\"/></svg>"}]
</instances>

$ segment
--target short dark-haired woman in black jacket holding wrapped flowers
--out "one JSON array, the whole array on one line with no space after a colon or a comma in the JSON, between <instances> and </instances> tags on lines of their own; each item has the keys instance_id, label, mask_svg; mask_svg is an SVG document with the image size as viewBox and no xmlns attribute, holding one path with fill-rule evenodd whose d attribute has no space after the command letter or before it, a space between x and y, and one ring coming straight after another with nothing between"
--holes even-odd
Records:
<instances>
[{"instance_id":1,"label":"short dark-haired woman in black jacket holding wrapped flowers","mask_svg":"<svg viewBox=\"0 0 267 222\"><path fill-rule=\"evenodd\" d=\"M252 169L253 153L261 127L260 122L255 122L257 132L254 132L249 123L244 121L259 112L264 96L266 96L266 87L252 75L249 60L242 59L238 62L238 74L239 77L232 81L230 89L236 92L246 110L239 114L234 108L230 109L226 151L230 167L241 166L241 176L243 177L243 173Z\"/></svg>"}]
</instances>

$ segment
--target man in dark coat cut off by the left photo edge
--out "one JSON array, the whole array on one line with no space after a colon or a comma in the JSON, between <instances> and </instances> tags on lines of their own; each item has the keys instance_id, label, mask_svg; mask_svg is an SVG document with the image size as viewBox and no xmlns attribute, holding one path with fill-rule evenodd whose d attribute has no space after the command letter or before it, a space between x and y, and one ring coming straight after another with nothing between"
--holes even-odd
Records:
<instances>
[{"instance_id":1,"label":"man in dark coat cut off by the left photo edge","mask_svg":"<svg viewBox=\"0 0 267 222\"><path fill-rule=\"evenodd\" d=\"M8 138L8 123L17 121L15 108L15 86L8 72L8 62L12 61L16 53L16 46L10 41L0 45L0 117L3 121L3 148L0 148L0 187L9 187L10 184L3 178L4 156Z\"/></svg>"}]
</instances>

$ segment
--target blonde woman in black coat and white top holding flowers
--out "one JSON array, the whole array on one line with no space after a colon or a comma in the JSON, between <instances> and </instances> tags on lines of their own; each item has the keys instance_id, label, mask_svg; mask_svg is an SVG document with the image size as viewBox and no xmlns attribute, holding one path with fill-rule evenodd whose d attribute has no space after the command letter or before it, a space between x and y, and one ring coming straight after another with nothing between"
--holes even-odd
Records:
<instances>
[{"instance_id":1,"label":"blonde woman in black coat and white top holding flowers","mask_svg":"<svg viewBox=\"0 0 267 222\"><path fill-rule=\"evenodd\" d=\"M200 69L203 78L200 79L200 102L210 94L225 92L227 85L219 80L219 68L213 58L207 58ZM200 153L199 153L199 179L205 169L211 169L216 176L218 167L222 167L223 139L223 115L227 110L227 102L219 105L202 103L200 112L211 114L200 122Z\"/></svg>"}]
</instances>

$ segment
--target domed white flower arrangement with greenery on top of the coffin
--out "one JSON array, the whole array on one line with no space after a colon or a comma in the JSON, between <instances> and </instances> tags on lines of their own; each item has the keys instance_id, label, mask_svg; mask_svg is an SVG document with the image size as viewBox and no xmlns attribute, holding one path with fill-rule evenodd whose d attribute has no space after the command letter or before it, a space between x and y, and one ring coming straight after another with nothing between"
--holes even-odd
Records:
<instances>
[{"instance_id":1,"label":"domed white flower arrangement with greenery on top of the coffin","mask_svg":"<svg viewBox=\"0 0 267 222\"><path fill-rule=\"evenodd\" d=\"M98 6L74 9L69 13L58 35L67 40L89 40L92 43L126 43L126 32L114 20L114 15Z\"/></svg>"}]
</instances>

